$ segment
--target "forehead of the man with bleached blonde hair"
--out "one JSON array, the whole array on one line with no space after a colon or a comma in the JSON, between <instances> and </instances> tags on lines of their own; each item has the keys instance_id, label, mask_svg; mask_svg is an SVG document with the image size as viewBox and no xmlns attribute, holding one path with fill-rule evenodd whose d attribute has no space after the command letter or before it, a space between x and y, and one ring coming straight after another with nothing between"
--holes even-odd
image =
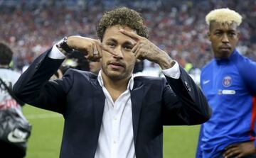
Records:
<instances>
[{"instance_id":1,"label":"forehead of the man with bleached blonde hair","mask_svg":"<svg viewBox=\"0 0 256 158\"><path fill-rule=\"evenodd\" d=\"M236 23L210 23L210 30L237 30L238 25Z\"/></svg>"}]
</instances>

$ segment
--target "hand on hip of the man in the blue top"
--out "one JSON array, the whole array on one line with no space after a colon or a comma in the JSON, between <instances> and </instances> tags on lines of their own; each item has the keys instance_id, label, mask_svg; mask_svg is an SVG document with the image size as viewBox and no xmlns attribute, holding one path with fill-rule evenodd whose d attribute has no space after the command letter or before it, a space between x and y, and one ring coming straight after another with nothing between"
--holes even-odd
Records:
<instances>
[{"instance_id":1,"label":"hand on hip of the man in the blue top","mask_svg":"<svg viewBox=\"0 0 256 158\"><path fill-rule=\"evenodd\" d=\"M256 149L254 142L242 142L237 145L230 145L225 148L225 152L223 153L223 157L229 158L229 157L245 157L250 154L255 154Z\"/></svg>"}]
</instances>

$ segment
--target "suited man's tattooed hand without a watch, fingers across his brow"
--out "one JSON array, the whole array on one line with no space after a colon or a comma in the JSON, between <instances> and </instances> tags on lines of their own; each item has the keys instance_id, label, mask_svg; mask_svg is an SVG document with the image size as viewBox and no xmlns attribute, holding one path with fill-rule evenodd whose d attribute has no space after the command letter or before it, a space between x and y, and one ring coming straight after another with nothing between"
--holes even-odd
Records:
<instances>
[{"instance_id":1,"label":"suited man's tattooed hand without a watch, fingers across his brow","mask_svg":"<svg viewBox=\"0 0 256 158\"><path fill-rule=\"evenodd\" d=\"M155 62L162 69L169 69L174 66L171 57L164 50L151 43L151 41L127 30L120 29L120 32L137 41L136 45L132 48L132 52L134 52L137 59Z\"/></svg>"}]
</instances>

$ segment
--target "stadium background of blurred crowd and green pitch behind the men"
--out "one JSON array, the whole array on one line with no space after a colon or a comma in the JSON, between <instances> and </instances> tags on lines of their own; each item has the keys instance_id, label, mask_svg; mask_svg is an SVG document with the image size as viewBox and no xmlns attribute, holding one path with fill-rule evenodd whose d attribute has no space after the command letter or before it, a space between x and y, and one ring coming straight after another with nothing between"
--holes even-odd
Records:
<instances>
[{"instance_id":1,"label":"stadium background of blurred crowd and green pitch behind the men","mask_svg":"<svg viewBox=\"0 0 256 158\"><path fill-rule=\"evenodd\" d=\"M201 67L213 57L204 18L212 9L228 7L242 14L238 50L256 60L255 0L0 0L0 40L14 50L13 67L22 71L64 36L95 38L95 24L102 13L116 6L142 13L149 27L149 39L186 67L197 82ZM157 76L159 67L145 62L144 73ZM58 157L63 130L61 115L31 106L23 112L33 125L26 158ZM194 157L198 128L164 128L164 157Z\"/></svg>"}]
</instances>

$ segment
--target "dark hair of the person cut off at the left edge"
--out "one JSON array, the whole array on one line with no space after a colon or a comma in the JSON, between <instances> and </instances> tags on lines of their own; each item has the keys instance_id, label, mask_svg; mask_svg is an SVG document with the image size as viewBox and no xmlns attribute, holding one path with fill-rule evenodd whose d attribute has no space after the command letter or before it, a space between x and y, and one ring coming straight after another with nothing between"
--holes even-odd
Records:
<instances>
[{"instance_id":1,"label":"dark hair of the person cut off at the left edge","mask_svg":"<svg viewBox=\"0 0 256 158\"><path fill-rule=\"evenodd\" d=\"M0 43L0 64L9 64L14 52L5 43Z\"/></svg>"}]
</instances>

